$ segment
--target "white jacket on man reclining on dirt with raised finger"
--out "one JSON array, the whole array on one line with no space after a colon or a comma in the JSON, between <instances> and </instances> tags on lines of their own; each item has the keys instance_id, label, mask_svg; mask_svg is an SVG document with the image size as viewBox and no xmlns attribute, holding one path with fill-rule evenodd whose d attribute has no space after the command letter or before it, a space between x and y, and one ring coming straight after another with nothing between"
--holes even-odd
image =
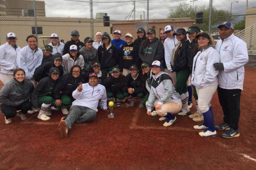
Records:
<instances>
[{"instance_id":1,"label":"white jacket on man reclining on dirt with raised finger","mask_svg":"<svg viewBox=\"0 0 256 170\"><path fill-rule=\"evenodd\" d=\"M89 83L84 83L82 87L82 91L78 91L77 88L73 91L72 96L75 101L72 103L72 106L85 106L94 109L96 112L98 112L98 105L103 110L107 109L107 92L105 86L97 84L95 87L92 87Z\"/></svg>"}]
</instances>

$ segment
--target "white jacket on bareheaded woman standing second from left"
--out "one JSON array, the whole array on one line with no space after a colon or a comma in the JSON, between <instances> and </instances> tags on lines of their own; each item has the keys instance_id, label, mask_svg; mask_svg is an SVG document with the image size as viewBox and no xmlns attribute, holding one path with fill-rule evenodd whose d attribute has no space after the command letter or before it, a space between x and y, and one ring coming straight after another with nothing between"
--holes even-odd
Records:
<instances>
[{"instance_id":1,"label":"white jacket on bareheaded woman standing second from left","mask_svg":"<svg viewBox=\"0 0 256 170\"><path fill-rule=\"evenodd\" d=\"M26 79L33 79L34 70L41 65L43 51L36 47L34 51L27 45L23 47L17 55L17 66L22 68L26 73Z\"/></svg>"}]
</instances>

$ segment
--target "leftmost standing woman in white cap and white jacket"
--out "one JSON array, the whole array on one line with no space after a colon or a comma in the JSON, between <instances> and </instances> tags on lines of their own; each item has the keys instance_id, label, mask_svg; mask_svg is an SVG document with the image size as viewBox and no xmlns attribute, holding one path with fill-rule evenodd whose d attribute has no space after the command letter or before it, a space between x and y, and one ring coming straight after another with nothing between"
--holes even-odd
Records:
<instances>
[{"instance_id":1,"label":"leftmost standing woman in white cap and white jacket","mask_svg":"<svg viewBox=\"0 0 256 170\"><path fill-rule=\"evenodd\" d=\"M6 84L13 79L13 72L17 68L17 53L20 47L16 44L14 33L6 35L6 43L0 46L0 80Z\"/></svg>"}]
</instances>

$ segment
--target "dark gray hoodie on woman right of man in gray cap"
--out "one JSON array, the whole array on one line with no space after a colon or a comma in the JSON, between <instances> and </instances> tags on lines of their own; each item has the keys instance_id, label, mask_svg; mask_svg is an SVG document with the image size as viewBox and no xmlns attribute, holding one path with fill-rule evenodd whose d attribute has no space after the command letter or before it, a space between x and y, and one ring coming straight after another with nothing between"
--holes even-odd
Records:
<instances>
[{"instance_id":1,"label":"dark gray hoodie on woman right of man in gray cap","mask_svg":"<svg viewBox=\"0 0 256 170\"><path fill-rule=\"evenodd\" d=\"M92 64L98 62L98 50L92 47L90 51L86 50L86 47L83 46L79 53L84 57L84 71L88 72L92 69Z\"/></svg>"}]
</instances>

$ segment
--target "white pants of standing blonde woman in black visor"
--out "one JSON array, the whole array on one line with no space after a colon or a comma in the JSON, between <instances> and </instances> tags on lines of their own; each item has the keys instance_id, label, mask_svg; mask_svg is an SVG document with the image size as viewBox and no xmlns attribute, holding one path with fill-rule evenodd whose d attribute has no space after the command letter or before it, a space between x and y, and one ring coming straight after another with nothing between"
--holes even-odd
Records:
<instances>
[{"instance_id":1,"label":"white pants of standing blonde woman in black visor","mask_svg":"<svg viewBox=\"0 0 256 170\"><path fill-rule=\"evenodd\" d=\"M198 96L198 108L201 113L205 113L209 110L210 101L217 90L218 85L204 87L202 89L196 88Z\"/></svg>"}]
</instances>

